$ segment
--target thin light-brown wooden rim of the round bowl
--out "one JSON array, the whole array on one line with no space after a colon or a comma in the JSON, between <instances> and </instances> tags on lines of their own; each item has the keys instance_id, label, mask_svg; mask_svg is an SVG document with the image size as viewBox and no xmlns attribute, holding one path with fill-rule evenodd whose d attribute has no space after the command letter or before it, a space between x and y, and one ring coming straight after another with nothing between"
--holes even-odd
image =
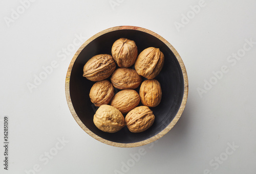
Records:
<instances>
[{"instance_id":1,"label":"thin light-brown wooden rim of the round bowl","mask_svg":"<svg viewBox=\"0 0 256 174\"><path fill-rule=\"evenodd\" d=\"M177 112L177 114L175 115L174 119L169 123L169 125L163 129L161 132L159 132L158 134L156 134L155 136L145 139L143 141L139 141L139 142L134 142L134 143L119 143L119 142L113 142L110 140L106 140L104 138L99 137L98 135L94 134L91 130L89 130L84 124L83 122L80 120L80 118L78 117L78 115L75 112L75 109L73 107L72 101L71 101L71 97L70 97L70 75L71 75L71 71L73 68L73 65L75 63L76 58L78 57L78 55L80 54L80 52L82 51L82 49L84 47L86 47L91 41L93 41L94 39L100 37L103 34L112 32L112 31L117 31L117 30L138 30L141 32L145 32L148 33L150 35L155 36L156 38L158 38L159 40L161 40L164 44L166 44L169 49L173 52L173 54L175 55L175 57L177 58L179 65L181 67L182 70L182 74L183 74L183 80L184 80L184 93L183 93L183 98L182 98L182 102L180 105L180 108ZM112 145L112 146L116 146L116 147L137 147L137 146L141 146L141 145L146 145L149 144L151 142L154 142L156 140L158 140L159 138L161 138L163 135L165 135L167 132L169 132L174 125L177 123L177 121L179 120L186 102L187 102L187 94L188 94L188 78L187 78L187 72L186 72L186 68L185 65L180 57L180 55L178 54L178 52L176 51L176 49L173 47L173 45L171 45L167 40L165 40L163 37L161 37L160 35L156 34L155 32L152 32L148 29L144 29L141 27L135 27L135 26L117 26L117 27L112 27L109 29L105 29L97 34L95 34L94 36L92 36L91 38L89 38L86 42L84 42L77 50L77 52L75 53L75 55L73 56L68 71L67 71L67 76L66 76L66 81L65 81L65 92L66 92L66 100L70 109L71 114L73 115L74 119L76 120L76 122L78 123L78 125L87 133L89 134L91 137L95 138L96 140L108 144L108 145Z\"/></svg>"}]
</instances>

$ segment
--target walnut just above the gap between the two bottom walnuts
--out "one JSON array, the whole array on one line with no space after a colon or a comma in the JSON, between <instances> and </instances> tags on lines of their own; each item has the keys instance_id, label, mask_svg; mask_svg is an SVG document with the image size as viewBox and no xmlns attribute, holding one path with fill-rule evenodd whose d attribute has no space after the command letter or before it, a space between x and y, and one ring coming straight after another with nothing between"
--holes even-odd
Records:
<instances>
[{"instance_id":1,"label":"walnut just above the gap between the two bottom walnuts","mask_svg":"<svg viewBox=\"0 0 256 174\"><path fill-rule=\"evenodd\" d=\"M140 103L138 92L133 89L124 89L116 93L110 105L118 109L122 114L126 114Z\"/></svg>"}]
</instances>

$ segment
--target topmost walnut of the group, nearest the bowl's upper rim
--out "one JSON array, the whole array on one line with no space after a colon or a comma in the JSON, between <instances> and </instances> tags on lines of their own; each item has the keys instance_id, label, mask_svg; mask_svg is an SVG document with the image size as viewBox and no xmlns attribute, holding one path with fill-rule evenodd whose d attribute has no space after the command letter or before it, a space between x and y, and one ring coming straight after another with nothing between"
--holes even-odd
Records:
<instances>
[{"instance_id":1,"label":"topmost walnut of the group, nearest the bowl's upper rim","mask_svg":"<svg viewBox=\"0 0 256 174\"><path fill-rule=\"evenodd\" d=\"M112 56L119 67L132 66L137 58L138 49L133 40L120 38L112 46Z\"/></svg>"}]
</instances>

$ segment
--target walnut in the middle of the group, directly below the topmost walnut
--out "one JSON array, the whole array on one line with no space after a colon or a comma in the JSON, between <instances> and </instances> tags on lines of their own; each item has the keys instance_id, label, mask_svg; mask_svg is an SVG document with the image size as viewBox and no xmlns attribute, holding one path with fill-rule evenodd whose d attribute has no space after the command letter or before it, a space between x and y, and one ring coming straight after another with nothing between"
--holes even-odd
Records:
<instances>
[{"instance_id":1,"label":"walnut in the middle of the group, directly below the topmost walnut","mask_svg":"<svg viewBox=\"0 0 256 174\"><path fill-rule=\"evenodd\" d=\"M134 69L118 68L113 72L111 82L117 89L135 89L140 86L142 79Z\"/></svg>"}]
</instances>

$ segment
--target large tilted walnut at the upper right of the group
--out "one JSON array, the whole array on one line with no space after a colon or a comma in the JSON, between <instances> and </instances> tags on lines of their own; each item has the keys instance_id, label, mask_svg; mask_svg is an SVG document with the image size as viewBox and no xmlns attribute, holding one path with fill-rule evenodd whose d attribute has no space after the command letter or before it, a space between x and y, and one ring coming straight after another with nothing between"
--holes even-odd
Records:
<instances>
[{"instance_id":1,"label":"large tilted walnut at the upper right of the group","mask_svg":"<svg viewBox=\"0 0 256 174\"><path fill-rule=\"evenodd\" d=\"M159 48L148 47L144 49L135 62L137 73L147 79L154 79L161 71L164 55Z\"/></svg>"}]
</instances>

